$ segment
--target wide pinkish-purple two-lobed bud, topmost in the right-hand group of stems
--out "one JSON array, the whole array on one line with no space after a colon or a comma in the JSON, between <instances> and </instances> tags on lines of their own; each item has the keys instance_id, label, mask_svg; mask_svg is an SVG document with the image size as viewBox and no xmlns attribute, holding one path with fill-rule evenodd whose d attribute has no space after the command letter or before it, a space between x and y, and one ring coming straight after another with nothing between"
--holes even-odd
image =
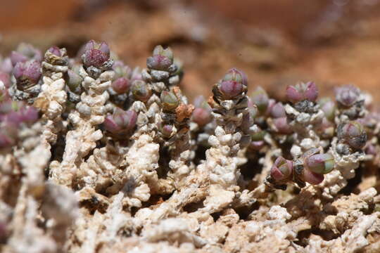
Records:
<instances>
[{"instance_id":1,"label":"wide pinkish-purple two-lobed bud, topmost in the right-hand group of stems","mask_svg":"<svg viewBox=\"0 0 380 253\"><path fill-rule=\"evenodd\" d=\"M291 101L291 103L297 103L302 100L310 100L315 102L318 97L318 89L315 82L307 82L296 84L296 86L286 87L286 98Z\"/></svg>"}]
</instances>

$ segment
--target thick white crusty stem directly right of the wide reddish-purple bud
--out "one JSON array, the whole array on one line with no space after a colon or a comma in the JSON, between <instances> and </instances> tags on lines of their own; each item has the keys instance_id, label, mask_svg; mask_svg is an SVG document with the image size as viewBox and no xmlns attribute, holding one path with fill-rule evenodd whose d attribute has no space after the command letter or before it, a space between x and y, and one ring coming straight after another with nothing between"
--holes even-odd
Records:
<instances>
[{"instance_id":1,"label":"thick white crusty stem directly right of the wide reddish-purple bud","mask_svg":"<svg viewBox=\"0 0 380 253\"><path fill-rule=\"evenodd\" d=\"M143 83L141 89L151 91L150 84ZM149 94L148 94L149 96ZM157 121L160 113L158 96L150 96L145 102L139 100L132 105L138 113L137 130L132 136L132 145L125 154L125 182L122 191L125 193L125 204L129 207L141 207L151 197L151 193L164 192L158 180L158 159L160 145L156 142Z\"/></svg>"}]
</instances>

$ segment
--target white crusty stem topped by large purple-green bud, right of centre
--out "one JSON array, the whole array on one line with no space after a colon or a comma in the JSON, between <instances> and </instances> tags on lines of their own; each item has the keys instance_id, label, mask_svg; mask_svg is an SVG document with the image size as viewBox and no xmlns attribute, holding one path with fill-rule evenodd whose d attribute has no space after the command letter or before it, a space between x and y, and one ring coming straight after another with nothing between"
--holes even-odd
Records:
<instances>
[{"instance_id":1,"label":"white crusty stem topped by large purple-green bud, right of centre","mask_svg":"<svg viewBox=\"0 0 380 253\"><path fill-rule=\"evenodd\" d=\"M209 103L217 127L215 135L208 139L211 148L206 151L206 160L198 166L198 170L210 174L210 195L204 202L207 212L227 207L239 190L241 158L238 151L251 141L251 136L247 135L252 123L246 91L246 78L236 69L229 70L213 88L214 96Z\"/></svg>"}]
</instances>

